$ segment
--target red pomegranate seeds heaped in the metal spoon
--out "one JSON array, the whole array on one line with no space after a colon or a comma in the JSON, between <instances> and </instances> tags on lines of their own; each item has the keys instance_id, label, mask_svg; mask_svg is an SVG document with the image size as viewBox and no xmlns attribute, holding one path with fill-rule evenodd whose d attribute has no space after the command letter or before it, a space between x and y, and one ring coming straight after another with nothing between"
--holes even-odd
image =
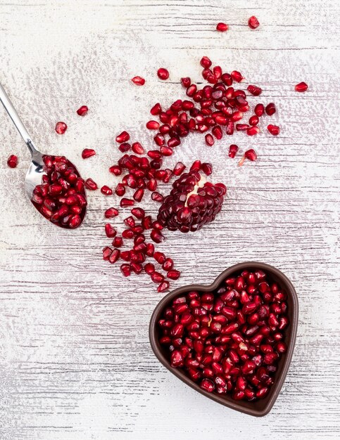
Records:
<instances>
[{"instance_id":1,"label":"red pomegranate seeds heaped in the metal spoon","mask_svg":"<svg viewBox=\"0 0 340 440\"><path fill-rule=\"evenodd\" d=\"M84 180L64 156L45 155L44 164L46 174L33 190L33 205L52 223L77 228L87 206Z\"/></svg>"}]
</instances>

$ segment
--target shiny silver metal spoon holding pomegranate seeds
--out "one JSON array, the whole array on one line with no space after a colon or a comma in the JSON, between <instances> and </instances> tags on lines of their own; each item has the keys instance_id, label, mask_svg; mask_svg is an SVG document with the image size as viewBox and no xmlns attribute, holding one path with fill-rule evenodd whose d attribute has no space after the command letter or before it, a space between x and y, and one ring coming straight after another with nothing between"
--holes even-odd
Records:
<instances>
[{"instance_id":1,"label":"shiny silver metal spoon holding pomegranate seeds","mask_svg":"<svg viewBox=\"0 0 340 440\"><path fill-rule=\"evenodd\" d=\"M30 199L30 201L32 202L33 190L37 185L40 185L42 183L42 175L45 174L44 173L44 155L37 150L36 146L34 145L34 142L32 141L31 136L28 134L27 130L25 129L23 122L21 121L18 113L16 112L15 108L13 107L13 104L11 103L10 99L8 98L6 91L4 91L4 87L1 86L1 84L0 84L0 101L1 101L2 105L4 105L6 112L11 117L13 124L15 125L16 129L19 131L21 137L25 141L25 144L27 145L27 148L30 150L30 153L32 155L32 161L30 163L30 167L28 168L28 171L27 171L27 174L25 177L25 182L24 182L26 194L27 194L28 198ZM75 167L75 165L73 165L73 163L70 161L68 161L68 164L75 169L75 172L80 177L80 174L77 171L77 168ZM86 195L85 195L85 198L86 198ZM33 205L34 205L34 203L33 203ZM34 207L37 208L36 205L34 205ZM39 209L38 209L38 211L39 211ZM83 209L82 221L84 220L85 214L86 214L86 207L85 207L85 209ZM56 224L56 226L61 226L63 228L68 228L68 226L62 226L59 223L53 223L53 224Z\"/></svg>"}]
</instances>

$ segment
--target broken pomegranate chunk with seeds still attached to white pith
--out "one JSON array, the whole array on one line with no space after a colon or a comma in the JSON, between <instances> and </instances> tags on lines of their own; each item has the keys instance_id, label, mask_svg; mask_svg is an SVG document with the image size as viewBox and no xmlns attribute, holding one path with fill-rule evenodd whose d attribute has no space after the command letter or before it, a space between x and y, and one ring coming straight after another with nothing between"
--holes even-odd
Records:
<instances>
[{"instance_id":1,"label":"broken pomegranate chunk with seeds still attached to white pith","mask_svg":"<svg viewBox=\"0 0 340 440\"><path fill-rule=\"evenodd\" d=\"M197 231L220 212L227 188L207 182L198 171L184 173L163 200L158 222L170 231Z\"/></svg>"}]
</instances>

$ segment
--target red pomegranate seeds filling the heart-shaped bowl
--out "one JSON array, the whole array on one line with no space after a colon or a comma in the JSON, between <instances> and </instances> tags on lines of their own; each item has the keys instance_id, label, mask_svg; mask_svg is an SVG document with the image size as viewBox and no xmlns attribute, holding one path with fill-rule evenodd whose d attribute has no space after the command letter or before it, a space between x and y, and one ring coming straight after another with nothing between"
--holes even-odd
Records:
<instances>
[{"instance_id":1,"label":"red pomegranate seeds filling the heart-shaped bowl","mask_svg":"<svg viewBox=\"0 0 340 440\"><path fill-rule=\"evenodd\" d=\"M188 292L163 311L159 342L173 368L207 392L267 396L284 343L287 294L264 271L243 271L214 292Z\"/></svg>"}]
</instances>

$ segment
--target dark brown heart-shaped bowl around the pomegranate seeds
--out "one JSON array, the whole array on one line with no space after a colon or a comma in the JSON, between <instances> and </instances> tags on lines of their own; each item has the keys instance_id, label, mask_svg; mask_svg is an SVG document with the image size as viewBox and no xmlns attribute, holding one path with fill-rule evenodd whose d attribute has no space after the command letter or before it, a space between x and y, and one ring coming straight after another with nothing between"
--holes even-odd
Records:
<instances>
[{"instance_id":1,"label":"dark brown heart-shaped bowl around the pomegranate seeds","mask_svg":"<svg viewBox=\"0 0 340 440\"><path fill-rule=\"evenodd\" d=\"M217 289L225 278L232 276L235 273L241 273L243 270L255 271L256 269L262 269L267 272L268 276L272 281L278 283L282 289L287 292L287 304L288 304L288 317L289 317L289 325L285 330L285 342L287 344L286 353L282 354L282 357L279 360L278 368L275 373L275 382L272 384L270 388L270 392L265 396L264 399L259 399L256 401L236 401L232 399L232 396L229 394L220 395L215 392L209 393L199 387L199 384L191 380L184 370L181 368L172 368L170 365L170 361L168 360L168 349L163 347L159 343L159 328L158 321L160 319L161 313L163 310L172 302L176 297L180 297L184 293L190 292L191 290L197 290L199 292L212 292ZM227 270L223 271L218 278L210 285L187 285L184 287L179 287L178 289L170 292L163 299L160 300L156 309L153 311L151 316L150 326L149 326L149 338L151 343L151 348L153 349L153 353L158 358L160 363L163 363L165 368L178 377L182 382L189 385L189 387L203 394L203 396L212 399L215 402L220 403L221 405L227 406L237 411L241 411L241 413L246 413L249 415L253 415L256 417L262 417L263 415L267 415L272 409L277 396L284 384L284 380L286 378L289 364L291 363L291 356L293 355L295 339L296 339L296 330L298 327L298 297L296 295L296 291L294 286L291 284L290 280L285 276L281 271L277 268L270 266L265 263L257 263L253 261L235 264L227 268Z\"/></svg>"}]
</instances>

